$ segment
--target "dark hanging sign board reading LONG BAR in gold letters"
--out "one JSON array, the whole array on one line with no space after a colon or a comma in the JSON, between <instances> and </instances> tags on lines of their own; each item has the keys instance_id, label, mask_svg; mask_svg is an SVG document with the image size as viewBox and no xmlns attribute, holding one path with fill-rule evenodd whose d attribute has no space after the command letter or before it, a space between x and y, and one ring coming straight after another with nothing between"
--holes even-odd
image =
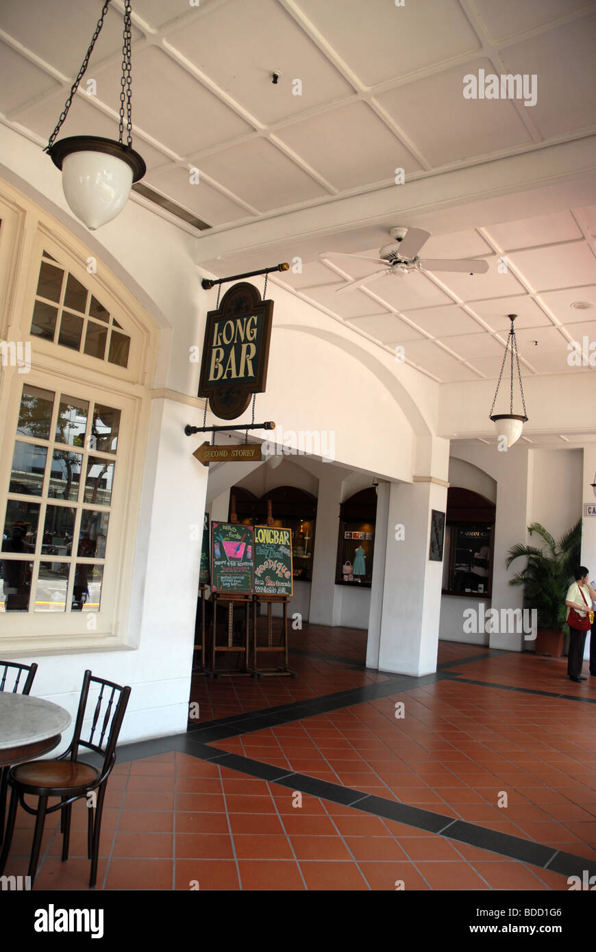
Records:
<instances>
[{"instance_id":1,"label":"dark hanging sign board reading LONG BAR in gold letters","mask_svg":"<svg viewBox=\"0 0 596 952\"><path fill-rule=\"evenodd\" d=\"M242 281L229 288L217 310L209 310L205 327L200 397L223 420L235 420L253 393L267 385L273 302Z\"/></svg>"}]
</instances>

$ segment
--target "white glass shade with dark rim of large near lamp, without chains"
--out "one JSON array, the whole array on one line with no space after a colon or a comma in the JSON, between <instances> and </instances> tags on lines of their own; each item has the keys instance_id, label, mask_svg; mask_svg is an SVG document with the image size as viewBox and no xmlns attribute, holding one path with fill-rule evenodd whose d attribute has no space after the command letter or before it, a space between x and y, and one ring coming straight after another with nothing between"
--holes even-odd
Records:
<instances>
[{"instance_id":1,"label":"white glass shade with dark rim of large near lamp, without chains","mask_svg":"<svg viewBox=\"0 0 596 952\"><path fill-rule=\"evenodd\" d=\"M62 188L73 214L93 231L122 211L133 182L146 171L141 156L111 139L71 136L50 148L62 169Z\"/></svg>"}]
</instances>

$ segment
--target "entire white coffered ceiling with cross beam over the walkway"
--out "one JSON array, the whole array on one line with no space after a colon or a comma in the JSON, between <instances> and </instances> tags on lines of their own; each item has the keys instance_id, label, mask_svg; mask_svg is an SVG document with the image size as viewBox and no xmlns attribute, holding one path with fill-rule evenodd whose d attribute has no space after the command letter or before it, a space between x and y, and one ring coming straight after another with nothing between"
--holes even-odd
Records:
<instances>
[{"instance_id":1,"label":"entire white coffered ceiling with cross beam over the walkway","mask_svg":"<svg viewBox=\"0 0 596 952\"><path fill-rule=\"evenodd\" d=\"M567 195L566 169L537 171L537 204L527 172L522 185L511 170L507 188L491 187L492 205L476 217L464 209L466 189L477 201L495 169L594 141L596 4L132 0L132 8L134 148L148 165L145 185L197 220L205 267L224 275L300 256L299 273L275 280L380 347L404 347L409 364L441 382L496 378L511 312L524 374L593 369L569 367L567 345L596 339L596 307L570 307L596 304L594 178L580 175ZM100 10L99 0L0 4L3 121L40 145ZM122 10L113 0L65 135L117 138ZM535 75L536 105L464 98L463 77L479 69ZM593 172L593 154L586 163L578 153L577 169ZM395 185L396 169L407 186ZM448 217L441 188L458 182L449 202L459 210ZM400 200L385 196L416 187L415 202L402 203L410 210L387 221ZM357 212L346 229L348 207ZM337 294L377 266L321 252L376 257L391 225L430 230L424 257L486 258L488 271L387 276Z\"/></svg>"}]
</instances>

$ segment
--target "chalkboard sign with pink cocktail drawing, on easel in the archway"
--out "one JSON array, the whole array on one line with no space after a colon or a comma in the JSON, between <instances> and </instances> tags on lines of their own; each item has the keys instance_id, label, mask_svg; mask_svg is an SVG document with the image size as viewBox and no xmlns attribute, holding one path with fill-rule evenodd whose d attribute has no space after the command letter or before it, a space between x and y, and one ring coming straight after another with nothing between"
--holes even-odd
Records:
<instances>
[{"instance_id":1,"label":"chalkboard sign with pink cocktail drawing, on easel in the archway","mask_svg":"<svg viewBox=\"0 0 596 952\"><path fill-rule=\"evenodd\" d=\"M211 591L252 593L252 526L211 523Z\"/></svg>"}]
</instances>

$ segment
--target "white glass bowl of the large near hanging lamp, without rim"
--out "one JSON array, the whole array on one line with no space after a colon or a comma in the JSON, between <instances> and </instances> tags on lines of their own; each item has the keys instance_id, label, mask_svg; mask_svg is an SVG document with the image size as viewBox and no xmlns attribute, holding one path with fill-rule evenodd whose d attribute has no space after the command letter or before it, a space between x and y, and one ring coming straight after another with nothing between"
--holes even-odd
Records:
<instances>
[{"instance_id":1,"label":"white glass bowl of the large near hanging lamp, without rim","mask_svg":"<svg viewBox=\"0 0 596 952\"><path fill-rule=\"evenodd\" d=\"M127 204L132 169L105 152L72 152L62 163L62 188L73 214L94 231Z\"/></svg>"}]
</instances>

